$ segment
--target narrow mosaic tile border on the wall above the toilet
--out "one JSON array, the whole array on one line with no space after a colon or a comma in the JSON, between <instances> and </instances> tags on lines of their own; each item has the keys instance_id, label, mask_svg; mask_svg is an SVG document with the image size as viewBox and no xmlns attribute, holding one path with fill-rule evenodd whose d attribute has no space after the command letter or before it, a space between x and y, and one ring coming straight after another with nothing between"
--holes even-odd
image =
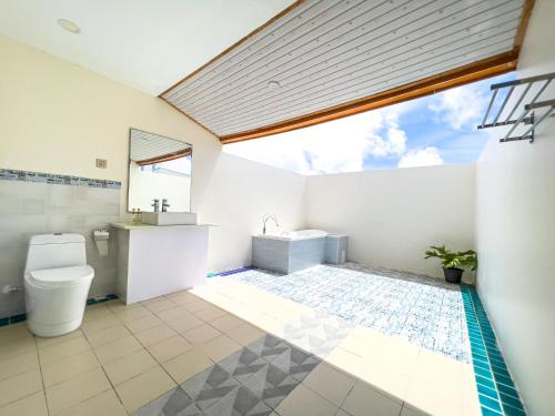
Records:
<instances>
[{"instance_id":1,"label":"narrow mosaic tile border on the wall above the toilet","mask_svg":"<svg viewBox=\"0 0 555 416\"><path fill-rule=\"evenodd\" d=\"M57 175L52 173L41 173L32 171L17 171L13 169L0 169L0 180L50 183L54 185L107 187L112 190L121 189L121 182L118 181L108 181L101 179L90 179L90 177L70 176L70 175Z\"/></svg>"}]
</instances>

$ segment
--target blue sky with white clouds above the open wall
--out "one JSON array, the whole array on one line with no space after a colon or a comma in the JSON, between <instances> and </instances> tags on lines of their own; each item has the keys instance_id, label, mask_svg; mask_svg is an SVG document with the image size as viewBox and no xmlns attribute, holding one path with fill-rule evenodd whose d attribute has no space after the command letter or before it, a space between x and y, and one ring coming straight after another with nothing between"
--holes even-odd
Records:
<instances>
[{"instance_id":1,"label":"blue sky with white clouds above the open wall","mask_svg":"<svg viewBox=\"0 0 555 416\"><path fill-rule=\"evenodd\" d=\"M309 175L473 163L492 134L476 129L490 85L513 79L514 73L504 74L223 150Z\"/></svg>"}]
</instances>

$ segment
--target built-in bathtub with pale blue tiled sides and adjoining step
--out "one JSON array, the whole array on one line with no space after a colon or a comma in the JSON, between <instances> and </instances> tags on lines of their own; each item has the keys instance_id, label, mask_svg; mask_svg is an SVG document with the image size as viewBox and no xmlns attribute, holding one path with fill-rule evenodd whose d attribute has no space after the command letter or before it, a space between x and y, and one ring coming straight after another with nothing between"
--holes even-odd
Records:
<instances>
[{"instance_id":1,"label":"built-in bathtub with pale blue tiled sides and adjoining step","mask_svg":"<svg viewBox=\"0 0 555 416\"><path fill-rule=\"evenodd\" d=\"M252 265L290 274L346 258L347 236L322 230L297 230L252 237Z\"/></svg>"}]
</instances>

